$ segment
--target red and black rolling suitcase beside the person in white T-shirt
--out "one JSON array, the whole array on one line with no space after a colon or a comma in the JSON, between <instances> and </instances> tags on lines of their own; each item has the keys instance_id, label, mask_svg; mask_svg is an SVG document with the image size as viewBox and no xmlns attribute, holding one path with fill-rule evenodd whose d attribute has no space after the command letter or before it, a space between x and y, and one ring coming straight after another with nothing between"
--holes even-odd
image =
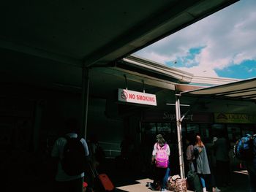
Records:
<instances>
[{"instance_id":1,"label":"red and black rolling suitcase beside the person in white T-shirt","mask_svg":"<svg viewBox=\"0 0 256 192\"><path fill-rule=\"evenodd\" d=\"M115 187L108 175L105 173L98 174L97 170L91 164L89 166L95 179L94 186L97 188L97 191L113 191Z\"/></svg>"}]
</instances>

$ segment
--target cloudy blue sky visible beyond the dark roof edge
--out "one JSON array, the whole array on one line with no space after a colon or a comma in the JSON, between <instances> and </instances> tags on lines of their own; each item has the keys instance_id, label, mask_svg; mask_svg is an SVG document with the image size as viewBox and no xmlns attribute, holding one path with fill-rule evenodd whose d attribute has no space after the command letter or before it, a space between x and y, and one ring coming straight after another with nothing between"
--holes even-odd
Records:
<instances>
[{"instance_id":1,"label":"cloudy blue sky visible beyond the dark roof edge","mask_svg":"<svg viewBox=\"0 0 256 192\"><path fill-rule=\"evenodd\" d=\"M256 1L240 0L133 55L196 76L256 77Z\"/></svg>"}]
</instances>

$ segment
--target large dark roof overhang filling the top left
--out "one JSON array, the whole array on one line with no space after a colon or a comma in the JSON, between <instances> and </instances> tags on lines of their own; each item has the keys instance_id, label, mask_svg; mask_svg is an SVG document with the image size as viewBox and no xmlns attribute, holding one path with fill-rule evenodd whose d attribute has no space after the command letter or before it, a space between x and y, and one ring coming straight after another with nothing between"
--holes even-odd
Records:
<instances>
[{"instance_id":1,"label":"large dark roof overhang filling the top left","mask_svg":"<svg viewBox=\"0 0 256 192\"><path fill-rule=\"evenodd\" d=\"M108 64L236 1L2 1L0 47L75 66Z\"/></svg>"}]
</instances>

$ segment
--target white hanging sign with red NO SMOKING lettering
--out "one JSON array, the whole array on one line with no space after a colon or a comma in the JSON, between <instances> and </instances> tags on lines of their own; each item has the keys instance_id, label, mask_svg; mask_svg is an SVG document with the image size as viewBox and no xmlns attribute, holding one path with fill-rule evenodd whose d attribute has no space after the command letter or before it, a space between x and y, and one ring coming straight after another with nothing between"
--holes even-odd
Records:
<instances>
[{"instance_id":1,"label":"white hanging sign with red NO SMOKING lettering","mask_svg":"<svg viewBox=\"0 0 256 192\"><path fill-rule=\"evenodd\" d=\"M148 104L157 106L157 98L154 94L118 89L118 101L133 104Z\"/></svg>"}]
</instances>

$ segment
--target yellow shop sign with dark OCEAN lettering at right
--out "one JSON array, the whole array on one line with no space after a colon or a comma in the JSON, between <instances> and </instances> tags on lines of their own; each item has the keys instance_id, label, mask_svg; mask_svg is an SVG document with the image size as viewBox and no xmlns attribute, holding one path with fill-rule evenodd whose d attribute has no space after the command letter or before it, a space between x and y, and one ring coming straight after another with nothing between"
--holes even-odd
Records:
<instances>
[{"instance_id":1,"label":"yellow shop sign with dark OCEAN lettering at right","mask_svg":"<svg viewBox=\"0 0 256 192\"><path fill-rule=\"evenodd\" d=\"M256 123L256 115L238 113L214 113L215 123Z\"/></svg>"}]
</instances>

